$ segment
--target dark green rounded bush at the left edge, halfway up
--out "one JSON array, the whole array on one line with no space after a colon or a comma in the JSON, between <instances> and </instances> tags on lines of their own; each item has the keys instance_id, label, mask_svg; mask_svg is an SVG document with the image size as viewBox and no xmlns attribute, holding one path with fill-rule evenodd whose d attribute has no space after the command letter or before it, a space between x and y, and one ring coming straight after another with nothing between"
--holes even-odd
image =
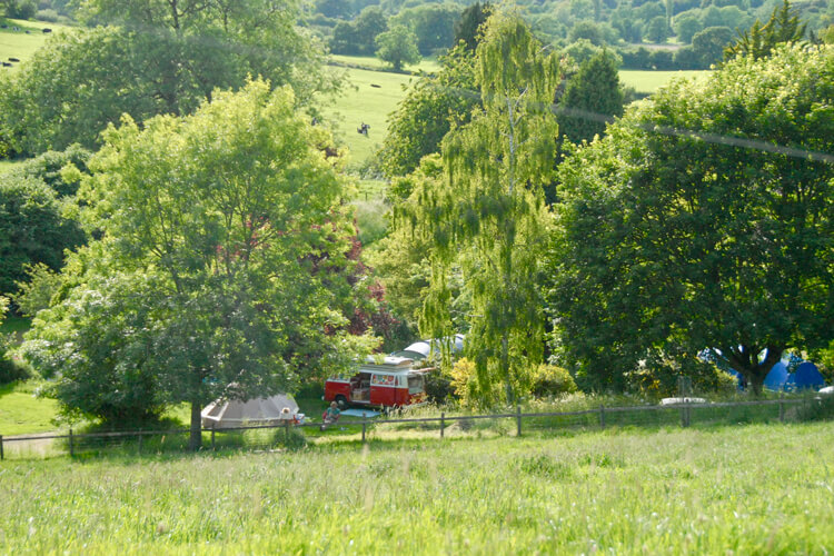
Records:
<instances>
[{"instance_id":1,"label":"dark green rounded bush at the left edge, halfway up","mask_svg":"<svg viewBox=\"0 0 834 556\"><path fill-rule=\"evenodd\" d=\"M26 281L27 265L60 269L64 249L85 239L46 183L31 177L0 177L0 292L10 295L16 282Z\"/></svg>"}]
</instances>

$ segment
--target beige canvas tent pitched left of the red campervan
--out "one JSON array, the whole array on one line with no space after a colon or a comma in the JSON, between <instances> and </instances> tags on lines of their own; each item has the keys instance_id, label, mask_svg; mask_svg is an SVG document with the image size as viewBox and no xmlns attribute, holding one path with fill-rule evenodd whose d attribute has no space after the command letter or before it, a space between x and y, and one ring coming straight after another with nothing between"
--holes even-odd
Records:
<instances>
[{"instance_id":1,"label":"beige canvas tent pitched left of the red campervan","mask_svg":"<svg viewBox=\"0 0 834 556\"><path fill-rule=\"evenodd\" d=\"M203 428L279 425L294 417L304 420L304 415L298 413L298 404L289 394L276 394L269 398L254 398L249 401L218 399L207 405L201 416Z\"/></svg>"}]
</instances>

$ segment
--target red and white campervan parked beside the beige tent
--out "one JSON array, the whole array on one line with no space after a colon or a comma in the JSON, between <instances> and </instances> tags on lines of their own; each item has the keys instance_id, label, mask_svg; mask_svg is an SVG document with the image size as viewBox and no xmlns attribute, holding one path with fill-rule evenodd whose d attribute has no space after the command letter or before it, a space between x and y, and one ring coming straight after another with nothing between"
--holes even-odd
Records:
<instances>
[{"instance_id":1,"label":"red and white campervan parked beside the beige tent","mask_svg":"<svg viewBox=\"0 0 834 556\"><path fill-rule=\"evenodd\" d=\"M386 357L377 361L368 357L354 374L334 376L325 383L325 400L339 406L365 405L404 407L426 401L425 374L414 369L405 357Z\"/></svg>"}]
</instances>

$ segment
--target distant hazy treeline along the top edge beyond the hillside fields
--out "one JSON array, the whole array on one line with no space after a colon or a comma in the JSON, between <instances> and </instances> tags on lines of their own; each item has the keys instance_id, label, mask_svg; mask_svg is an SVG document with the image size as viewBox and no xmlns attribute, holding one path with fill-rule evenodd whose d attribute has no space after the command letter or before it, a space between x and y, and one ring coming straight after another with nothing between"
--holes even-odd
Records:
<instances>
[{"instance_id":1,"label":"distant hazy treeline along the top edge beyond the hillside fields","mask_svg":"<svg viewBox=\"0 0 834 556\"><path fill-rule=\"evenodd\" d=\"M484 2L487 3L487 2ZM778 0L518 0L538 38L568 50L616 50L625 69L706 69L724 47L766 21ZM480 2L419 0L317 0L307 24L340 54L373 56L375 38L408 27L423 56L454 44L455 26ZM834 2L793 4L818 33L834 22ZM645 44L645 46L643 46Z\"/></svg>"}]
</instances>

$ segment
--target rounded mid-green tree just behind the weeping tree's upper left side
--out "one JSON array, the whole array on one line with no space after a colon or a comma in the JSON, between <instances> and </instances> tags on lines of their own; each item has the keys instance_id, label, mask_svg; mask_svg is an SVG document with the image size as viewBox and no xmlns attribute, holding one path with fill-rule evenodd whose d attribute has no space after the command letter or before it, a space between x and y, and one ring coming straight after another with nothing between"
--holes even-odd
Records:
<instances>
[{"instance_id":1,"label":"rounded mid-green tree just behind the weeping tree's upper left side","mask_svg":"<svg viewBox=\"0 0 834 556\"><path fill-rule=\"evenodd\" d=\"M456 47L440 63L440 71L420 78L390 116L379 152L389 177L410 173L423 157L438 152L449 129L469 121L473 108L479 105L474 54ZM398 197L406 199L408 193Z\"/></svg>"}]
</instances>

